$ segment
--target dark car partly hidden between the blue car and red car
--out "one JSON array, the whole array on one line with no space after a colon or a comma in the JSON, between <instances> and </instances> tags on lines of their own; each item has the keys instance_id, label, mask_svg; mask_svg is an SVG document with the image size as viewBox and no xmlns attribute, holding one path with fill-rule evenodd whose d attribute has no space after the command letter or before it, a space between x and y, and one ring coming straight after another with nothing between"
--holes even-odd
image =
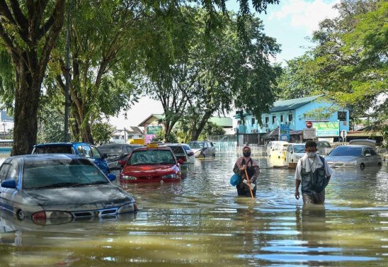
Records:
<instances>
[{"instance_id":1,"label":"dark car partly hidden between the blue car and red car","mask_svg":"<svg viewBox=\"0 0 388 267\"><path fill-rule=\"evenodd\" d=\"M142 144L101 144L98 147L101 153L105 153L108 155L106 161L108 161L110 171L120 171L121 165L118 164L120 159L124 159L131 152L138 148L144 147Z\"/></svg>"}]
</instances>

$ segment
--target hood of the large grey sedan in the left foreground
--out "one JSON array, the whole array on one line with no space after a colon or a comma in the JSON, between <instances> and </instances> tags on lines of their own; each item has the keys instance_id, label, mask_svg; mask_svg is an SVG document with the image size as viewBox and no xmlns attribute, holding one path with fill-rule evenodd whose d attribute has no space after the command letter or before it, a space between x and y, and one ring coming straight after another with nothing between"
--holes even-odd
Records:
<instances>
[{"instance_id":1,"label":"hood of the large grey sedan in the left foreground","mask_svg":"<svg viewBox=\"0 0 388 267\"><path fill-rule=\"evenodd\" d=\"M44 209L64 207L74 210L113 208L135 200L112 184L74 188L43 188L24 191Z\"/></svg>"}]
</instances>

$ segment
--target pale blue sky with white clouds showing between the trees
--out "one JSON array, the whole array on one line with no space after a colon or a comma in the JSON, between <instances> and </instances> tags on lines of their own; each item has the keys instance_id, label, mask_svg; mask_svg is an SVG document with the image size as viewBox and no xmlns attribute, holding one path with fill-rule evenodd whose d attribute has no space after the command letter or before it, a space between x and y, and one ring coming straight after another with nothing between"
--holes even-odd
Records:
<instances>
[{"instance_id":1,"label":"pale blue sky with white clouds showing between the trees","mask_svg":"<svg viewBox=\"0 0 388 267\"><path fill-rule=\"evenodd\" d=\"M238 6L229 2L227 8L236 11ZM340 0L280 0L279 5L269 5L266 14L256 14L264 23L264 33L275 38L281 45L282 52L274 62L285 65L286 60L303 55L313 45L307 37L311 37L313 31L318 29L319 21L338 16L333 5L339 2ZM118 129L138 126L149 115L162 113L163 108L159 101L142 97L127 112L127 119L119 115L117 118L110 118L110 124Z\"/></svg>"}]
</instances>

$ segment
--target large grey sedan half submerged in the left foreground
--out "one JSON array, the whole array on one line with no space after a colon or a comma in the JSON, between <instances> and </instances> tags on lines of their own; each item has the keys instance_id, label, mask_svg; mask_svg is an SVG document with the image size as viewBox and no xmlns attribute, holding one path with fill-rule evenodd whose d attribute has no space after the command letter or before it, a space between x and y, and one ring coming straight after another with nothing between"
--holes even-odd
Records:
<instances>
[{"instance_id":1,"label":"large grey sedan half submerged in the left foreground","mask_svg":"<svg viewBox=\"0 0 388 267\"><path fill-rule=\"evenodd\" d=\"M132 195L108 176L72 154L8 157L0 166L0 209L38 225L137 212Z\"/></svg>"}]
</instances>

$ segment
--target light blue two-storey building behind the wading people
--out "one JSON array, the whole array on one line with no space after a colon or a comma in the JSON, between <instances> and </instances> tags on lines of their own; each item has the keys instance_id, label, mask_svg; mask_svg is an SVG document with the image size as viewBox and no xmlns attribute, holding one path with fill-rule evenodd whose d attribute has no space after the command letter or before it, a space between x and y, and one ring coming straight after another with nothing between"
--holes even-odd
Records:
<instances>
[{"instance_id":1,"label":"light blue two-storey building behind the wading people","mask_svg":"<svg viewBox=\"0 0 388 267\"><path fill-rule=\"evenodd\" d=\"M239 135L256 135L258 143L279 140L280 128L289 129L290 142L302 142L304 130L310 128L316 129L317 139L329 139L331 142L338 141L341 131L349 131L348 108L325 101L321 96L277 101L270 113L262 114L261 118L244 110L237 111L234 118L237 120L236 132Z\"/></svg>"}]
</instances>

